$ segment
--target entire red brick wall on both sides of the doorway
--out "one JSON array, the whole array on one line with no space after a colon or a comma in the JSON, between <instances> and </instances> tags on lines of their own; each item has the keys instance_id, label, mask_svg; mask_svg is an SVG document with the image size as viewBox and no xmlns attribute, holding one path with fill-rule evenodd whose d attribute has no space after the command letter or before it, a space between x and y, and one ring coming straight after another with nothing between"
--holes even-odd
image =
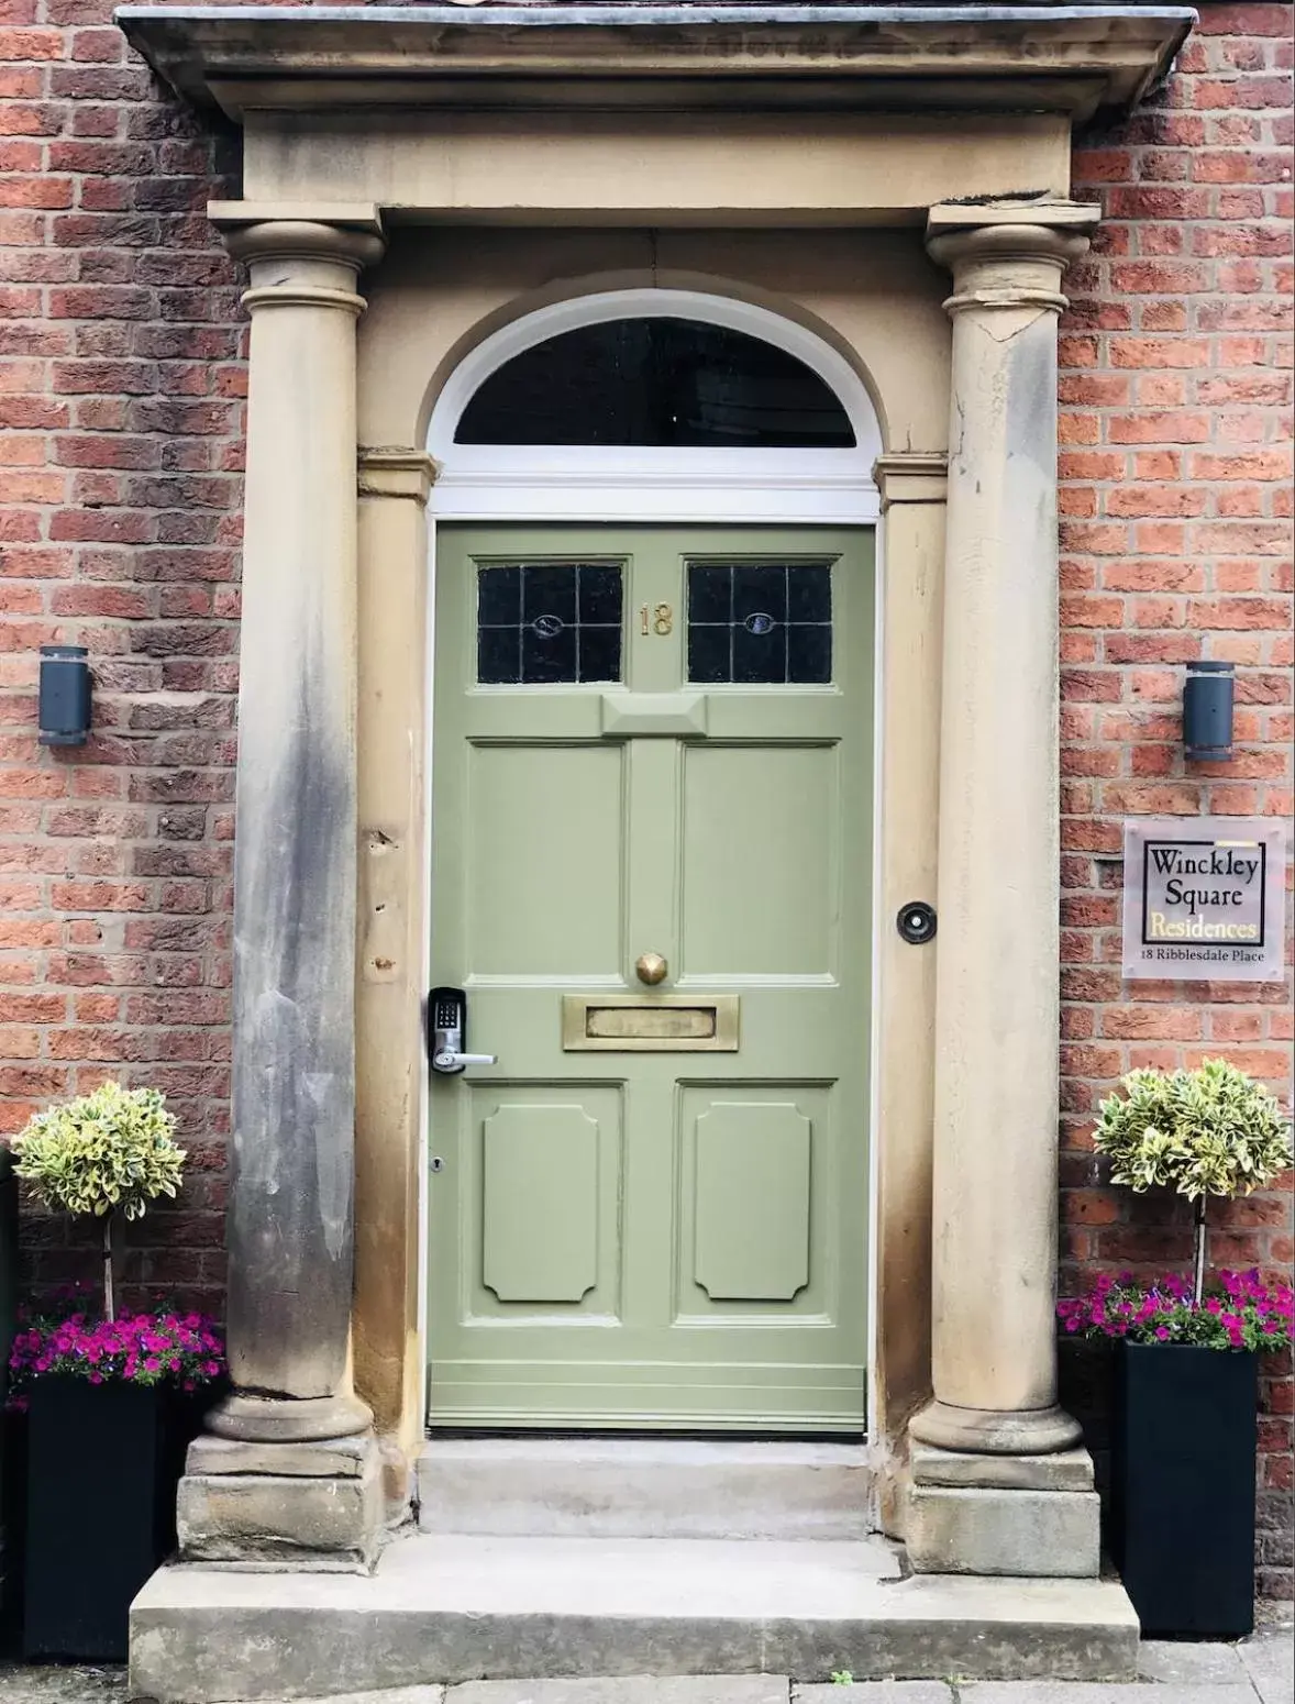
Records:
<instances>
[{"instance_id":1,"label":"entire red brick wall on both sides of the doorway","mask_svg":"<svg viewBox=\"0 0 1295 1704\"><path fill-rule=\"evenodd\" d=\"M1118 975L1125 815L1292 808L1292 7L1201 10L1169 89L1077 153L1108 220L1062 346L1067 1287L1188 1258L1186 1215L1092 1159L1121 1072L1227 1053L1288 1089L1288 990ZM109 1072L164 1087L193 1169L128 1276L215 1305L244 371L201 206L237 193L235 153L107 17L0 0L0 1133ZM73 755L34 741L51 639L95 659ZM1239 665L1229 765L1183 762L1193 656ZM58 1222L27 1249L39 1285L90 1269ZM1220 1215L1213 1249L1288 1269L1290 1189ZM1288 1597L1288 1367L1264 1402L1259 1580Z\"/></svg>"}]
</instances>

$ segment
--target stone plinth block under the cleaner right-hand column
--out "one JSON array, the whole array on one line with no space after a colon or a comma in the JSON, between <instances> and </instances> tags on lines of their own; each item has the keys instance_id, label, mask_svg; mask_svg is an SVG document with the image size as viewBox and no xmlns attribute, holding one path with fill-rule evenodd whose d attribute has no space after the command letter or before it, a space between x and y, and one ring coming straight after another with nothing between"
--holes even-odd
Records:
<instances>
[{"instance_id":1,"label":"stone plinth block under the cleaner right-hand column","mask_svg":"<svg viewBox=\"0 0 1295 1704\"><path fill-rule=\"evenodd\" d=\"M1096 1580L1099 1500L1087 1450L973 1455L913 1443L905 1547L918 1574Z\"/></svg>"}]
</instances>

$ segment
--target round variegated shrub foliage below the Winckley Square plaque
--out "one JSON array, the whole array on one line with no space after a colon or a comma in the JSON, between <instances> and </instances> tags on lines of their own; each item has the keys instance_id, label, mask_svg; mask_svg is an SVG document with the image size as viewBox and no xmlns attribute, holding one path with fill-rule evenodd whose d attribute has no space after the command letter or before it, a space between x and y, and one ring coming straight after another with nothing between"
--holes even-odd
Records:
<instances>
[{"instance_id":1,"label":"round variegated shrub foliage below the Winckley Square plaque","mask_svg":"<svg viewBox=\"0 0 1295 1704\"><path fill-rule=\"evenodd\" d=\"M1101 1104L1094 1145L1111 1179L1138 1195L1155 1184L1189 1201L1239 1196L1292 1164L1290 1125L1263 1084L1227 1060L1198 1070L1135 1070Z\"/></svg>"}]
</instances>

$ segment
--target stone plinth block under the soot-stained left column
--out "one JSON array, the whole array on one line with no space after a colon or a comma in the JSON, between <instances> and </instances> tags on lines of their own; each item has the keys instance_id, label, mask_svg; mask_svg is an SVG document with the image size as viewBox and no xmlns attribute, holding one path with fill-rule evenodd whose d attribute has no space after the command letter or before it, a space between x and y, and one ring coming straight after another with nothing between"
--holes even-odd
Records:
<instances>
[{"instance_id":1,"label":"stone plinth block under the soot-stained left column","mask_svg":"<svg viewBox=\"0 0 1295 1704\"><path fill-rule=\"evenodd\" d=\"M371 1573L388 1527L377 1438L198 1438L176 1501L179 1559L293 1573Z\"/></svg>"}]
</instances>

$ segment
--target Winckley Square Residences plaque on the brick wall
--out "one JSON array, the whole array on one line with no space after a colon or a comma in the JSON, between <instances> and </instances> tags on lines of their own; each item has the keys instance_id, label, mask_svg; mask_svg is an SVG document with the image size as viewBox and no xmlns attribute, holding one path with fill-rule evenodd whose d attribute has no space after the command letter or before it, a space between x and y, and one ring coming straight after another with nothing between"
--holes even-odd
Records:
<instances>
[{"instance_id":1,"label":"Winckley Square Residences plaque on the brick wall","mask_svg":"<svg viewBox=\"0 0 1295 1704\"><path fill-rule=\"evenodd\" d=\"M1131 980L1280 982L1286 830L1271 818L1125 821Z\"/></svg>"}]
</instances>

